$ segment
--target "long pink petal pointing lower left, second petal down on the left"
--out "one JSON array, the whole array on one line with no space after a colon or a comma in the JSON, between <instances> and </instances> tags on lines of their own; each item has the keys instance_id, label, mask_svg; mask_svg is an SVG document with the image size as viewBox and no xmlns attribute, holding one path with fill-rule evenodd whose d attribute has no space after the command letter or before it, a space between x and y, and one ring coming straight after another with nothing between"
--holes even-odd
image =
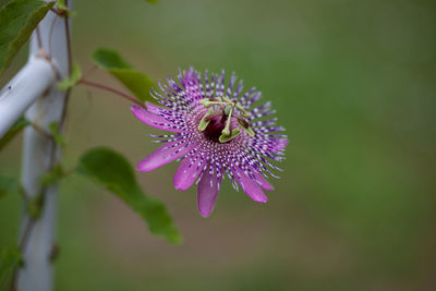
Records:
<instances>
[{"instance_id":1,"label":"long pink petal pointing lower left, second petal down on the left","mask_svg":"<svg viewBox=\"0 0 436 291\"><path fill-rule=\"evenodd\" d=\"M183 157L187 153L190 153L194 147L197 146L196 143L190 144L189 146L186 142L182 144L180 141L168 142L158 149L156 149L152 155L140 161L136 169L138 171L148 172L159 168L168 162Z\"/></svg>"}]
</instances>

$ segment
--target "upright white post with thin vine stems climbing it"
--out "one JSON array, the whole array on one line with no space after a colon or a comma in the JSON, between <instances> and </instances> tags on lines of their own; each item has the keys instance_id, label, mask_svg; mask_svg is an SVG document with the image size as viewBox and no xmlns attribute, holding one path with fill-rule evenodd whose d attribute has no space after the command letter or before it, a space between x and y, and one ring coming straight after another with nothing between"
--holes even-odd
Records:
<instances>
[{"instance_id":1,"label":"upright white post with thin vine stems climbing it","mask_svg":"<svg viewBox=\"0 0 436 291\"><path fill-rule=\"evenodd\" d=\"M66 2L66 1L65 1ZM69 1L71 7L71 0ZM69 48L66 28L63 17L49 12L39 23L39 35L43 49L50 53L60 75L69 74ZM50 37L51 34L51 37ZM51 44L49 44L51 40ZM31 59L38 54L36 33L31 40ZM56 82L26 112L26 118L49 132L49 124L60 122L63 114L65 93L58 89ZM16 288L19 291L50 291L53 289L53 269L50 259L56 238L57 192L56 185L43 189L41 175L59 160L59 149L52 140L32 126L25 129L22 183L28 199L38 194L44 196L40 216L33 220L26 209L23 210L20 241L23 247L24 266L19 269ZM33 225L32 227L29 227Z\"/></svg>"}]
</instances>

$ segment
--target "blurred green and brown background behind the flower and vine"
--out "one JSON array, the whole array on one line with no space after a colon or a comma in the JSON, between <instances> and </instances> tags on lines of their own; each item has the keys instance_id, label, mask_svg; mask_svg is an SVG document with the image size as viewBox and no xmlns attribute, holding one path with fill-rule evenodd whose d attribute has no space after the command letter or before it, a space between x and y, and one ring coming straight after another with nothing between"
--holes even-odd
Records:
<instances>
[{"instance_id":1,"label":"blurred green and brown background behind the flower and vine","mask_svg":"<svg viewBox=\"0 0 436 291\"><path fill-rule=\"evenodd\" d=\"M266 205L226 181L213 216L175 191L171 163L137 173L184 237L170 245L116 197L71 177L60 194L57 290L435 290L436 2L75 0L73 50L97 47L156 78L235 71L278 109L290 145ZM26 60L20 53L8 76ZM5 77L8 78L8 77ZM90 77L122 88L110 76ZM2 81L4 84L5 81ZM74 89L66 167L108 145L133 163L157 146L130 104ZM21 137L0 154L20 172ZM20 198L0 202L0 245Z\"/></svg>"}]
</instances>

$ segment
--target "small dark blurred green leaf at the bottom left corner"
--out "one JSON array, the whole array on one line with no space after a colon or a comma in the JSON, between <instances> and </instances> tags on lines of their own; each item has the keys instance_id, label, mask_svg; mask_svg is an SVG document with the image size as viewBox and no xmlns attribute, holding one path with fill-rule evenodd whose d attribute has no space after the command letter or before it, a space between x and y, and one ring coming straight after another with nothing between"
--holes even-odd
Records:
<instances>
[{"instance_id":1,"label":"small dark blurred green leaf at the bottom left corner","mask_svg":"<svg viewBox=\"0 0 436 291\"><path fill-rule=\"evenodd\" d=\"M17 246L0 250L0 289L7 287L15 268L23 264L22 254Z\"/></svg>"}]
</instances>

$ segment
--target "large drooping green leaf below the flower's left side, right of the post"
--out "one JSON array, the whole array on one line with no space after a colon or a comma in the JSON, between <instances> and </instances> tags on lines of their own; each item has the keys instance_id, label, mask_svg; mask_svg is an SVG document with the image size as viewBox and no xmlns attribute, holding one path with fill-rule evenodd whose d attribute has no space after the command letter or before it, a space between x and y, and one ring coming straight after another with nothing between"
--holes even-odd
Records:
<instances>
[{"instance_id":1,"label":"large drooping green leaf below the flower's left side, right of the post","mask_svg":"<svg viewBox=\"0 0 436 291\"><path fill-rule=\"evenodd\" d=\"M132 166L120 154L106 147L90 149L82 156L76 172L113 192L147 221L153 234L164 235L172 243L181 241L164 203L144 195Z\"/></svg>"}]
</instances>

